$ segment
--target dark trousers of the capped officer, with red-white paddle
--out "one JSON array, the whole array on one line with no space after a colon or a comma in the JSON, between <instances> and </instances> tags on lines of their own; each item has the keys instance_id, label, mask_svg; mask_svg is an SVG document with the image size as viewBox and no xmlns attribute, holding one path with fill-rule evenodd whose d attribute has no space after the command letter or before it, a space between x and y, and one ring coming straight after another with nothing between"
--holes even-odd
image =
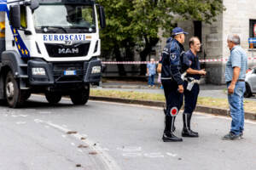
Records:
<instances>
[{"instance_id":1,"label":"dark trousers of the capped officer, with red-white paddle","mask_svg":"<svg viewBox=\"0 0 256 170\"><path fill-rule=\"evenodd\" d=\"M166 96L166 116L176 116L183 105L183 94L177 91L177 82L161 80Z\"/></svg>"}]
</instances>

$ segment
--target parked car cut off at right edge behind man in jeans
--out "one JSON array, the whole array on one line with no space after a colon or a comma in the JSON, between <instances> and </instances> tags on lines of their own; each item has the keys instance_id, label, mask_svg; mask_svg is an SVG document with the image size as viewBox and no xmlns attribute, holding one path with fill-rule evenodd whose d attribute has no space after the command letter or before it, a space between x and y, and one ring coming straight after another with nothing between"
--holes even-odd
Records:
<instances>
[{"instance_id":1,"label":"parked car cut off at right edge behind man in jeans","mask_svg":"<svg viewBox=\"0 0 256 170\"><path fill-rule=\"evenodd\" d=\"M256 94L256 67L253 67L247 72L245 82L246 92L244 93L244 97L249 98L253 96L253 94Z\"/></svg>"}]
</instances>

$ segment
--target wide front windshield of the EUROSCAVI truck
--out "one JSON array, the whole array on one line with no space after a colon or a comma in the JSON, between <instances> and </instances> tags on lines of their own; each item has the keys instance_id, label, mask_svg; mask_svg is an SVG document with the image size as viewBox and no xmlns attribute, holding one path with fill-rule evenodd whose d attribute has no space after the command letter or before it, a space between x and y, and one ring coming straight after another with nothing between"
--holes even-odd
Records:
<instances>
[{"instance_id":1,"label":"wide front windshield of the EUROSCAVI truck","mask_svg":"<svg viewBox=\"0 0 256 170\"><path fill-rule=\"evenodd\" d=\"M40 4L33 14L38 33L95 32L95 11L92 5Z\"/></svg>"}]
</instances>

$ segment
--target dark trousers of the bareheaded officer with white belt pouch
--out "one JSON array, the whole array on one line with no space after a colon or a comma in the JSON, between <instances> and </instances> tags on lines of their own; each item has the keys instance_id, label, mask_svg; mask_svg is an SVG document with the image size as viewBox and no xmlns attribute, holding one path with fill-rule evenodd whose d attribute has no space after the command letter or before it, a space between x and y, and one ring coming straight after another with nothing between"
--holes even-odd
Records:
<instances>
[{"instance_id":1,"label":"dark trousers of the bareheaded officer with white belt pouch","mask_svg":"<svg viewBox=\"0 0 256 170\"><path fill-rule=\"evenodd\" d=\"M187 90L188 82L184 81L184 113L192 114L195 111L198 94L200 91L199 84L195 83L191 91Z\"/></svg>"}]
</instances>

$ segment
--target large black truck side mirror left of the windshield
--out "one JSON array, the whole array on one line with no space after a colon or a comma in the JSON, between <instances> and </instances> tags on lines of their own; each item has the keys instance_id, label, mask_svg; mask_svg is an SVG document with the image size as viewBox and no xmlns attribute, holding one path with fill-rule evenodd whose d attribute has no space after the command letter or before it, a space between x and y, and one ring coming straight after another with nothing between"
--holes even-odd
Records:
<instances>
[{"instance_id":1,"label":"large black truck side mirror left of the windshield","mask_svg":"<svg viewBox=\"0 0 256 170\"><path fill-rule=\"evenodd\" d=\"M16 29L20 29L20 5L9 7L9 22Z\"/></svg>"}]
</instances>

